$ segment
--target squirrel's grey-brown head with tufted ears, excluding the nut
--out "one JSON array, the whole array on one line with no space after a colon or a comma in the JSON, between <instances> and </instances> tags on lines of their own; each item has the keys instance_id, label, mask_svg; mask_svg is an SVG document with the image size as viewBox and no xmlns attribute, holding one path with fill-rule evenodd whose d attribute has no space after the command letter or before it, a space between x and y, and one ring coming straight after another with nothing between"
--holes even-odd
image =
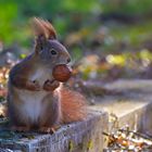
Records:
<instances>
[{"instance_id":1,"label":"squirrel's grey-brown head with tufted ears, excluding the nut","mask_svg":"<svg viewBox=\"0 0 152 152\"><path fill-rule=\"evenodd\" d=\"M71 56L66 48L56 39L56 33L51 23L41 18L33 20L36 36L35 54L49 65L67 64Z\"/></svg>"}]
</instances>

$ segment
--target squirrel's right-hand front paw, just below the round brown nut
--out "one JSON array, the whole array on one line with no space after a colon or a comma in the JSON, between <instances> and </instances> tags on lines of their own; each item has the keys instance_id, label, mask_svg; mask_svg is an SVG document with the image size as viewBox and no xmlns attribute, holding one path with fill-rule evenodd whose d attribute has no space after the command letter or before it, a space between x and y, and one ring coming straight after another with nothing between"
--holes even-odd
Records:
<instances>
[{"instance_id":1,"label":"squirrel's right-hand front paw, just below the round brown nut","mask_svg":"<svg viewBox=\"0 0 152 152\"><path fill-rule=\"evenodd\" d=\"M43 90L54 91L60 86L60 83L56 80L46 80L43 84Z\"/></svg>"}]
</instances>

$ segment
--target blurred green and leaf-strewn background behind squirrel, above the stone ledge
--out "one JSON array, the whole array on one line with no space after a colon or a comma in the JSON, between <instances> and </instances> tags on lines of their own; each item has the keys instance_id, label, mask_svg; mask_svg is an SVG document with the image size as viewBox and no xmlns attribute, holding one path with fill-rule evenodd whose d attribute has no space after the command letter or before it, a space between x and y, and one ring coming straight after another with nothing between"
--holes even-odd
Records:
<instances>
[{"instance_id":1,"label":"blurred green and leaf-strewn background behind squirrel, above the stone ledge","mask_svg":"<svg viewBox=\"0 0 152 152\"><path fill-rule=\"evenodd\" d=\"M29 21L49 20L83 80L152 78L151 0L1 0L0 84L33 50Z\"/></svg>"}]
</instances>

